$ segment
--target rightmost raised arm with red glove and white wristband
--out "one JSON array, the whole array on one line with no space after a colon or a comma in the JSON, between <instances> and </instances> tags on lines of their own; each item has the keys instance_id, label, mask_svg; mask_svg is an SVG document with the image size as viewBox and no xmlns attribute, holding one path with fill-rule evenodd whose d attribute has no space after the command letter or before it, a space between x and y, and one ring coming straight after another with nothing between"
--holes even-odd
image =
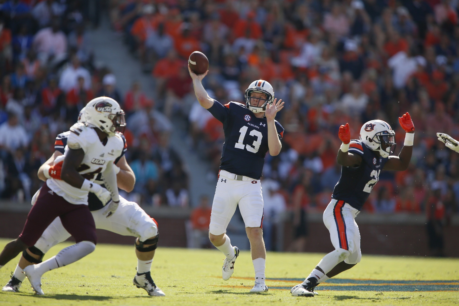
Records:
<instances>
[{"instance_id":1,"label":"rightmost raised arm with red glove and white wristband","mask_svg":"<svg viewBox=\"0 0 459 306\"><path fill-rule=\"evenodd\" d=\"M389 156L389 160L383 167L385 170L404 171L408 169L411 155L413 154L414 124L411 120L411 116L407 112L403 114L402 117L398 117L398 122L406 132L405 142L398 156Z\"/></svg>"}]
</instances>

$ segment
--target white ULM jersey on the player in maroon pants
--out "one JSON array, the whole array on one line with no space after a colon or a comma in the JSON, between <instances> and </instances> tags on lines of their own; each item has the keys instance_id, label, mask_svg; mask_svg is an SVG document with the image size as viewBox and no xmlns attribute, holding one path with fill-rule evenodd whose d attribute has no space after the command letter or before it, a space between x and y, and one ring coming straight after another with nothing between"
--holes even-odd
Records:
<instances>
[{"instance_id":1,"label":"white ULM jersey on the player in maroon pants","mask_svg":"<svg viewBox=\"0 0 459 306\"><path fill-rule=\"evenodd\" d=\"M84 178L94 182L97 174L104 172L107 164L114 162L121 155L124 142L120 135L115 134L108 137L106 145L103 145L94 128L90 128L84 123L75 123L70 128L64 155L58 156L54 161L55 164L64 160L69 146L84 150L84 158L77 171ZM88 191L75 188L62 180L54 178L48 178L46 184L67 202L88 205Z\"/></svg>"}]
</instances>

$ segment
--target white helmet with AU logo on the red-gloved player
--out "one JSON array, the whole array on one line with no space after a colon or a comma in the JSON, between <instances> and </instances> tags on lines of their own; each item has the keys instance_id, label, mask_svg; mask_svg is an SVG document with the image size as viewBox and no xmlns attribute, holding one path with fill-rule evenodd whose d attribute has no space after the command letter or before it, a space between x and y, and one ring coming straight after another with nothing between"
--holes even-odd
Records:
<instances>
[{"instance_id":1,"label":"white helmet with AU logo on the red-gloved player","mask_svg":"<svg viewBox=\"0 0 459 306\"><path fill-rule=\"evenodd\" d=\"M370 120L360 128L360 140L370 150L378 151L381 157L388 157L395 150L395 132L389 123Z\"/></svg>"}]
</instances>

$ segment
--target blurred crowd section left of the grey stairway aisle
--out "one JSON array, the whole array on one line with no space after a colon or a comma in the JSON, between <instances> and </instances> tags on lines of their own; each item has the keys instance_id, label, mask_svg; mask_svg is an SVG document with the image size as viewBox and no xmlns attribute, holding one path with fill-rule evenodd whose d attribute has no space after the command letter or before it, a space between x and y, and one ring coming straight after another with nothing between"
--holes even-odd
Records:
<instances>
[{"instance_id":1,"label":"blurred crowd section left of the grey stairway aisle","mask_svg":"<svg viewBox=\"0 0 459 306\"><path fill-rule=\"evenodd\" d=\"M0 3L0 198L28 202L56 135L105 95L128 113L126 156L138 182L131 199L188 206L187 174L169 145L168 118L152 110L137 82L122 95L110 69L95 67L85 28L98 26L103 1Z\"/></svg>"}]
</instances>

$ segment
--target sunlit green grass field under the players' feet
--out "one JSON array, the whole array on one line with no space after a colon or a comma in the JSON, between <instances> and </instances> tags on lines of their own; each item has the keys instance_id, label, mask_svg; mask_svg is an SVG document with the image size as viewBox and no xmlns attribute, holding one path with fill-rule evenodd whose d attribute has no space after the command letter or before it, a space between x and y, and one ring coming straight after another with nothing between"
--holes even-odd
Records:
<instances>
[{"instance_id":1,"label":"sunlit green grass field under the players' feet","mask_svg":"<svg viewBox=\"0 0 459 306\"><path fill-rule=\"evenodd\" d=\"M0 239L1 249L7 241ZM54 247L45 259L66 245ZM269 253L269 291L251 294L254 272L248 251L241 251L233 277L225 282L221 278L224 256L218 250L158 248L151 272L166 296L149 297L132 284L134 248L97 245L82 260L46 273L45 296L35 296L26 279L20 293L0 292L0 305L459 305L459 259L449 258L364 255L356 267L319 285L319 295L291 296L290 288L323 255ZM16 264L17 259L0 270L1 286Z\"/></svg>"}]
</instances>

